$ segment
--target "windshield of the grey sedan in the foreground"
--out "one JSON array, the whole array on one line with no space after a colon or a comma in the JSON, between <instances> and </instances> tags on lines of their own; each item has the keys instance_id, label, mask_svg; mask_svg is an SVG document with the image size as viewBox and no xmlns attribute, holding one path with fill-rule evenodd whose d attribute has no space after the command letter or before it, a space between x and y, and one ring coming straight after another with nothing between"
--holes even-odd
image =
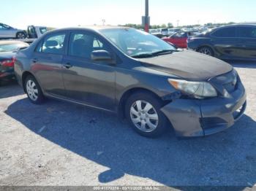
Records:
<instances>
[{"instance_id":1,"label":"windshield of the grey sedan in the foreground","mask_svg":"<svg viewBox=\"0 0 256 191\"><path fill-rule=\"evenodd\" d=\"M149 55L163 50L176 50L162 39L134 28L103 29L101 32L122 52L132 57Z\"/></svg>"}]
</instances>

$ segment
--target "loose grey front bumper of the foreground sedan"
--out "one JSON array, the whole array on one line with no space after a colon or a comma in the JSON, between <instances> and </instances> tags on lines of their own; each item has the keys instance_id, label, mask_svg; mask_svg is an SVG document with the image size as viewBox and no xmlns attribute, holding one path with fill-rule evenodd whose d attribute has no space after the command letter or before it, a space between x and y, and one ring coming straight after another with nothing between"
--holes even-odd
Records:
<instances>
[{"instance_id":1,"label":"loose grey front bumper of the foreground sedan","mask_svg":"<svg viewBox=\"0 0 256 191\"><path fill-rule=\"evenodd\" d=\"M176 99L161 111L178 137L208 136L230 128L244 114L246 92L240 83L229 98ZM239 112L238 109L241 109Z\"/></svg>"}]
</instances>

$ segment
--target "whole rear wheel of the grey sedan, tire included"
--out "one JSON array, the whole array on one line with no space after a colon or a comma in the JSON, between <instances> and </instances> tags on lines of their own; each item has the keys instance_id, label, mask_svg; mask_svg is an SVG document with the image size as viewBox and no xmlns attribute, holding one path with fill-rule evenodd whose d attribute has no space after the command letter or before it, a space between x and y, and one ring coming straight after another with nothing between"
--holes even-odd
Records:
<instances>
[{"instance_id":1,"label":"whole rear wheel of the grey sedan, tire included","mask_svg":"<svg viewBox=\"0 0 256 191\"><path fill-rule=\"evenodd\" d=\"M28 95L29 101L33 104L42 104L45 101L45 97L42 93L42 89L39 86L37 80L29 75L26 77L24 87L26 94Z\"/></svg>"}]
</instances>

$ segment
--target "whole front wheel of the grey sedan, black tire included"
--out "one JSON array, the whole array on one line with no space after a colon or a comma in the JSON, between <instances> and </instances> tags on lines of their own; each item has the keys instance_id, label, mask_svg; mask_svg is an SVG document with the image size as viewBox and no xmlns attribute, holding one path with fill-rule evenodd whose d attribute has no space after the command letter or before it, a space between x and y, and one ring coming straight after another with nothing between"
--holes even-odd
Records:
<instances>
[{"instance_id":1,"label":"whole front wheel of the grey sedan, black tire included","mask_svg":"<svg viewBox=\"0 0 256 191\"><path fill-rule=\"evenodd\" d=\"M160 111L161 108L159 98L148 92L139 92L128 98L125 115L132 128L141 136L156 138L162 136L167 127L167 118Z\"/></svg>"}]
</instances>

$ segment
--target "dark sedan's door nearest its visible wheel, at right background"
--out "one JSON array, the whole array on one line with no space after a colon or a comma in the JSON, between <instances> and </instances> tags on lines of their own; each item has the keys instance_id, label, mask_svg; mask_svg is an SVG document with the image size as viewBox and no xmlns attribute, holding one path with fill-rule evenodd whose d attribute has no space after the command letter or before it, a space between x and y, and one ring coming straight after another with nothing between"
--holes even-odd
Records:
<instances>
[{"instance_id":1,"label":"dark sedan's door nearest its visible wheel, at right background","mask_svg":"<svg viewBox=\"0 0 256 191\"><path fill-rule=\"evenodd\" d=\"M221 58L238 58L240 40L237 27L219 28L211 34L211 44Z\"/></svg>"}]
</instances>

